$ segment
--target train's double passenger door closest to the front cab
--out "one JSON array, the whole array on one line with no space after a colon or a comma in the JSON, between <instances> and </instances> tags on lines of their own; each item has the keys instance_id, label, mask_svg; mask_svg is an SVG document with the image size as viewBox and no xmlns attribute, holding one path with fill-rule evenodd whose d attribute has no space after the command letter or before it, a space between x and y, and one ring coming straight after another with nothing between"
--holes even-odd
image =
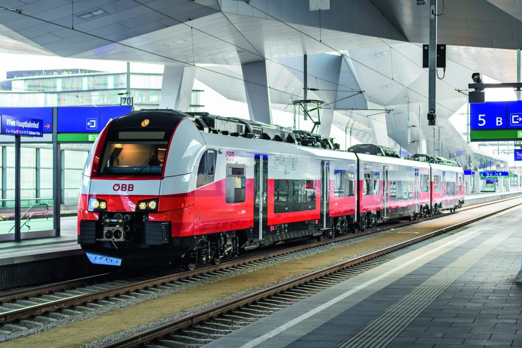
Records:
<instances>
[{"instance_id":1,"label":"train's double passenger door closest to the front cab","mask_svg":"<svg viewBox=\"0 0 522 348\"><path fill-rule=\"evenodd\" d=\"M266 238L268 196L268 156L254 155L254 241Z\"/></svg>"}]
</instances>

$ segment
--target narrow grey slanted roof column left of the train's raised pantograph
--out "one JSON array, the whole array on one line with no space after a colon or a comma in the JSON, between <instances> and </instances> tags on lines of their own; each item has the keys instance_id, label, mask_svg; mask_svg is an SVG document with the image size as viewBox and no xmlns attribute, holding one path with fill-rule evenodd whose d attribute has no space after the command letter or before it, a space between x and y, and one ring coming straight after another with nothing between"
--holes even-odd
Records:
<instances>
[{"instance_id":1,"label":"narrow grey slanted roof column left of the train's raised pantograph","mask_svg":"<svg viewBox=\"0 0 522 348\"><path fill-rule=\"evenodd\" d=\"M268 71L265 61L241 65L248 113L252 121L272 123Z\"/></svg>"}]
</instances>

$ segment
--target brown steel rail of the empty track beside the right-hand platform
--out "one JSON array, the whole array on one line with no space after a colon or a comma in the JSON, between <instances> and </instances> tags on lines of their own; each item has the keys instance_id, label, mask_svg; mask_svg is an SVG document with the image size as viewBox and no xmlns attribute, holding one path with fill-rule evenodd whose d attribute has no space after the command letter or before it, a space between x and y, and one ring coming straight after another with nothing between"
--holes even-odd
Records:
<instances>
[{"instance_id":1,"label":"brown steel rail of the empty track beside the right-hand platform","mask_svg":"<svg viewBox=\"0 0 522 348\"><path fill-rule=\"evenodd\" d=\"M156 328L151 328L151 329L147 329L147 330L138 332L136 334L130 335L130 336L125 337L125 338L122 338L120 340L101 345L100 347L101 348L135 347L135 346L138 346L140 344L147 343L147 342L159 339L159 338L163 337L164 335L167 335L167 334L169 334L171 332L194 326L194 325L196 325L197 323L199 323L201 321L205 321L205 320L214 318L214 317L216 317L216 316L218 316L220 314L227 313L230 310L234 310L236 308L245 306L247 304L251 304L251 303L256 302L256 301L258 301L260 299L263 299L263 298L275 295L275 294L280 293L280 292L285 291L285 290L292 289L295 286L299 286L301 284L304 284L304 283L307 283L309 281L312 281L312 280L324 277L325 275L334 273L336 271L339 271L339 270L342 270L342 269L346 269L346 268L354 266L354 265L358 265L361 262L364 262L364 261L367 261L367 260L371 260L371 259L376 258L378 256L382 256L382 255L391 253L392 251L396 251L398 249L402 249L402 248L410 246L412 244L416 244L416 243L422 242L422 241L424 241L426 239L433 238L433 237L438 236L440 234L447 233L449 231L453 231L453 230L459 229L460 227L469 225L469 224L471 224L473 222L477 222L477 221L480 221L480 220L485 219L485 218L489 218L489 217L491 217L491 216L493 216L495 214L498 214L500 212L512 209L512 208L520 206L520 205L522 205L522 203L518 203L518 204L516 204L514 206L507 207L507 208L501 209L499 211L491 212L491 213L482 215L482 216L477 217L477 218L466 220L464 222L459 222L459 223L454 224L452 226L447 226L447 227L444 227L443 229L436 230L436 231L430 232L430 233L422 235L422 236L418 236L418 237L414 237L414 238L408 239L408 241L400 242L400 243L397 243L395 245L388 246L388 247L385 247L385 248L373 251L372 253L368 253L368 254L365 254L365 255L362 255L362 256L358 256L358 257L354 257L354 258L352 258L350 260L337 263L334 266L330 266L330 267L327 267L327 268L322 269L322 270L318 270L318 271L315 271L315 272L312 272L312 273L309 273L309 274L302 275L299 278L296 278L296 279L293 279L293 280L290 280L290 281L287 281L287 282L284 282L284 283L281 283L281 284L272 285L272 286L268 287L267 289L259 290L259 291L256 291L256 292L252 293L252 294L248 294L248 295L244 295L244 296L241 296L239 298L236 298L236 299L232 299L232 300L227 301L227 302L225 302L223 304L212 306L212 307L210 307L208 309L199 311L198 313L195 313L195 314L192 314L192 315L187 315L187 316L185 316L183 318L174 319L174 320L172 320L170 322L167 322L167 323L164 323L163 325L160 325L160 326L158 326Z\"/></svg>"}]
</instances>

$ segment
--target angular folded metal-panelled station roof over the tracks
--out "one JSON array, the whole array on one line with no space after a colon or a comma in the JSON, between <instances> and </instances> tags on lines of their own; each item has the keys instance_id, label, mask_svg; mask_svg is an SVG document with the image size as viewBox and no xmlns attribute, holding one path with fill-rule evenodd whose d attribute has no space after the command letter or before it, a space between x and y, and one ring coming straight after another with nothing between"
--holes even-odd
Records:
<instances>
[{"instance_id":1,"label":"angular folded metal-panelled station roof over the tracks","mask_svg":"<svg viewBox=\"0 0 522 348\"><path fill-rule=\"evenodd\" d=\"M488 152L470 147L449 121L462 117L455 113L467 101L456 90L466 89L475 71L514 81L522 2L438 3L438 42L448 45L446 74L437 80L440 138L461 164L478 163ZM231 100L246 101L241 64L266 59L272 107L280 110L303 97L304 54L341 54L337 99L347 90L364 93L333 105L335 125L369 142L372 112L341 109L388 109L388 135L406 150L417 148L408 145L408 115L410 140L428 139L429 152L440 146L432 141L438 129L432 134L425 120L428 73L421 46L428 42L429 6L414 0L9 0L0 6L3 52L195 64L196 78ZM320 85L309 78L309 87L314 83ZM308 95L321 97L321 91Z\"/></svg>"}]
</instances>

